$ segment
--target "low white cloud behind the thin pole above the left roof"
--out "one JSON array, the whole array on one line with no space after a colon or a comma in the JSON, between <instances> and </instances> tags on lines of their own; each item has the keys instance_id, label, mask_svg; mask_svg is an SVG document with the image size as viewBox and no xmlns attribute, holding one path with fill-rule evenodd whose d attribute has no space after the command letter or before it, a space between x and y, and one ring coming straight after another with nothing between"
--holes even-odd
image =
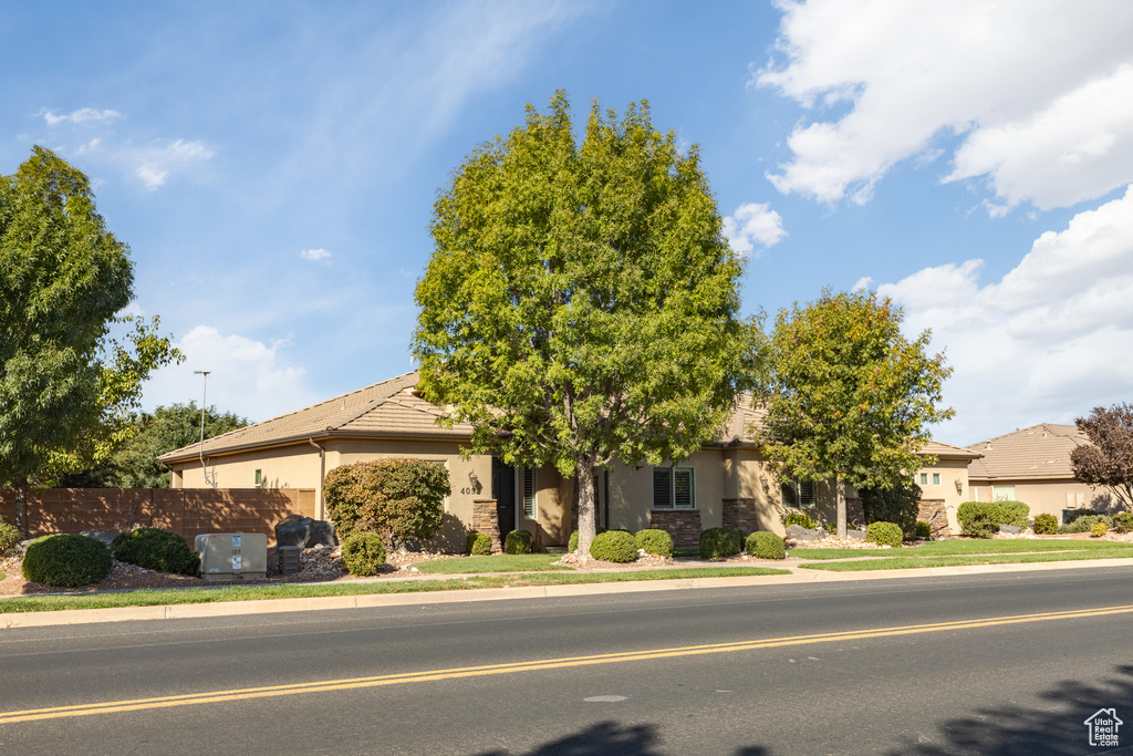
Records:
<instances>
[{"instance_id":1,"label":"low white cloud behind the thin pole above the left roof","mask_svg":"<svg viewBox=\"0 0 1133 756\"><path fill-rule=\"evenodd\" d=\"M199 404L204 387L194 371L210 371L207 401L222 411L255 422L306 407L318 397L307 385L306 371L283 362L287 346L198 325L177 342L185 362L157 371L146 384L145 405Z\"/></svg>"}]
</instances>

